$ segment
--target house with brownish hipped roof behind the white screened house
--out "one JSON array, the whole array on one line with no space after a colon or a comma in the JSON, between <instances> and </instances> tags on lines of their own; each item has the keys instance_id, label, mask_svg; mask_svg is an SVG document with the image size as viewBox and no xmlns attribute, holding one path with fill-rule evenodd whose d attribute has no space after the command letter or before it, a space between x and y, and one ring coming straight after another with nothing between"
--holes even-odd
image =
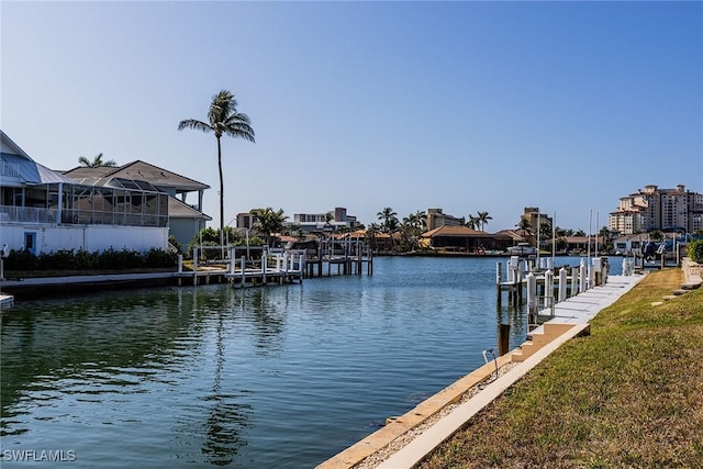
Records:
<instances>
[{"instance_id":1,"label":"house with brownish hipped roof behind the white screened house","mask_svg":"<svg viewBox=\"0 0 703 469\"><path fill-rule=\"evenodd\" d=\"M159 191L166 192L169 196L169 234L183 248L205 227L205 223L212 220L202 212L203 193L210 186L140 159L113 167L79 166L63 172L80 183L90 186L103 186L120 178L146 181Z\"/></svg>"}]
</instances>

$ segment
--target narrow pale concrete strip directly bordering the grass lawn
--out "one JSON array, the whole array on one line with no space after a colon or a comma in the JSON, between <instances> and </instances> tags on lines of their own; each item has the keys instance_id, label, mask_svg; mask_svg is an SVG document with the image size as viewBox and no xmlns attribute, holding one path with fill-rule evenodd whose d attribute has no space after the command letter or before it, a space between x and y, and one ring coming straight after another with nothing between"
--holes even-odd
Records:
<instances>
[{"instance_id":1,"label":"narrow pale concrete strip directly bordering the grass lawn","mask_svg":"<svg viewBox=\"0 0 703 469\"><path fill-rule=\"evenodd\" d=\"M525 361L516 365L507 373L488 384L481 392L466 403L459 405L449 415L443 417L432 427L398 450L393 456L378 466L378 469L412 468L423 460L445 439L459 431L472 416L493 402L507 388L535 368L542 360L555 351L563 343L572 339L590 327L589 323L573 324L572 327L543 346Z\"/></svg>"}]
</instances>

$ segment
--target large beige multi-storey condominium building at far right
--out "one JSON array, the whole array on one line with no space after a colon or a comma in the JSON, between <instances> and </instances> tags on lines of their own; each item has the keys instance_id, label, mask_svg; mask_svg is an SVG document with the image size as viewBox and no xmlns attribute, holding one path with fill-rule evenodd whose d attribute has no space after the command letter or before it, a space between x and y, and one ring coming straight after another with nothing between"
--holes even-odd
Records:
<instances>
[{"instance_id":1,"label":"large beige multi-storey condominium building at far right","mask_svg":"<svg viewBox=\"0 0 703 469\"><path fill-rule=\"evenodd\" d=\"M617 210L609 215L609 228L623 235L652 230L681 230L689 233L703 230L703 194L685 190L645 186L622 197Z\"/></svg>"}]
</instances>

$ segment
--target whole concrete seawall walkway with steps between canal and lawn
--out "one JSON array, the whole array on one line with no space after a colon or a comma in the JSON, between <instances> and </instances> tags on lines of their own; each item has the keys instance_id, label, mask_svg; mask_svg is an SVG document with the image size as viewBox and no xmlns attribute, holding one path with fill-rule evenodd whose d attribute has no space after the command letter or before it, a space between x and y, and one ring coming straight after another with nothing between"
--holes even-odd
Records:
<instances>
[{"instance_id":1,"label":"whole concrete seawall walkway with steps between canal and lawn","mask_svg":"<svg viewBox=\"0 0 703 469\"><path fill-rule=\"evenodd\" d=\"M641 278L640 275L610 276L605 284L557 303L554 317L533 331L528 335L528 340L520 347L499 357L495 364L491 361L471 371L404 415L389 420L383 428L327 459L317 468L412 468L560 345L579 335L588 335L590 321L601 310L613 304L635 287ZM510 369L500 378L491 379L496 366ZM419 435L408 437L425 421L443 409L457 403L469 392L471 395L466 402L453 409ZM400 439L406 442L399 444ZM393 449L389 450L391 447ZM365 460L371 458L373 464L365 464Z\"/></svg>"}]
</instances>

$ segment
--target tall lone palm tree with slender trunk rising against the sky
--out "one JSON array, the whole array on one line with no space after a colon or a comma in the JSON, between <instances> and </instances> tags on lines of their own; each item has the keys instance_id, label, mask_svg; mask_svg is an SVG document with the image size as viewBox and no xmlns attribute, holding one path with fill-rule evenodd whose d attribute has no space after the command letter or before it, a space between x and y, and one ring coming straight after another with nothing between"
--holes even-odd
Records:
<instances>
[{"instance_id":1,"label":"tall lone palm tree with slender trunk rising against the sky","mask_svg":"<svg viewBox=\"0 0 703 469\"><path fill-rule=\"evenodd\" d=\"M220 170L220 245L224 245L224 179L222 177L222 135L255 142L254 129L249 116L237 111L237 100L232 91L222 90L212 97L208 121L186 119L180 121L178 130L193 129L201 132L213 132L217 139L217 169Z\"/></svg>"}]
</instances>

